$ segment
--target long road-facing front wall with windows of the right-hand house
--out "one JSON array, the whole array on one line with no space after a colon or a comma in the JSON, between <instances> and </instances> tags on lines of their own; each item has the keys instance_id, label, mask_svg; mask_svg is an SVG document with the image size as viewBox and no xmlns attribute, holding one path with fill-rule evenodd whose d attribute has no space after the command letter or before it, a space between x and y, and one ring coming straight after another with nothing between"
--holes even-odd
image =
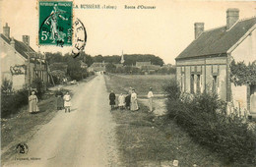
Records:
<instances>
[{"instance_id":1,"label":"long road-facing front wall with windows of the right-hand house","mask_svg":"<svg viewBox=\"0 0 256 167\"><path fill-rule=\"evenodd\" d=\"M216 76L216 91L226 100L226 58L200 58L176 61L176 80L182 90L191 92L191 75L194 74L194 92L197 92L197 80L200 77L200 92L212 91ZM183 84L183 85L181 85Z\"/></svg>"}]
</instances>

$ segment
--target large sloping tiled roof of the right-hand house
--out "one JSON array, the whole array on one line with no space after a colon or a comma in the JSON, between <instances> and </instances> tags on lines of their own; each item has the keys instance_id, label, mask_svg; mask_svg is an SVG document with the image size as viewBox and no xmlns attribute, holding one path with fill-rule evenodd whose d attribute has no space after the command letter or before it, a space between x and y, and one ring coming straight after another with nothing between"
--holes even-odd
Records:
<instances>
[{"instance_id":1,"label":"large sloping tiled roof of the right-hand house","mask_svg":"<svg viewBox=\"0 0 256 167\"><path fill-rule=\"evenodd\" d=\"M215 28L204 31L183 50L176 60L209 55L225 55L250 28L256 24L256 18L238 21L232 28Z\"/></svg>"}]
</instances>

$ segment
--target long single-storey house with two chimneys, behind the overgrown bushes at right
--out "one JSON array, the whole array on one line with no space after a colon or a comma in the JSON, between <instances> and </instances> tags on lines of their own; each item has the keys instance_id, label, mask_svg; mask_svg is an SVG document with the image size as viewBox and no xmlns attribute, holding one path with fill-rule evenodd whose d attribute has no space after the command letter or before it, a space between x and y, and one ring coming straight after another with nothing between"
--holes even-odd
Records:
<instances>
[{"instance_id":1,"label":"long single-storey house with two chimneys, behind the overgrown bushes at right","mask_svg":"<svg viewBox=\"0 0 256 167\"><path fill-rule=\"evenodd\" d=\"M227 9L224 27L204 30L204 23L194 26L195 39L175 59L181 90L200 93L210 89L241 114L256 115L251 105L256 103L252 100L256 85L235 86L230 81L232 60L247 65L256 60L256 18L239 20L238 9Z\"/></svg>"}]
</instances>

